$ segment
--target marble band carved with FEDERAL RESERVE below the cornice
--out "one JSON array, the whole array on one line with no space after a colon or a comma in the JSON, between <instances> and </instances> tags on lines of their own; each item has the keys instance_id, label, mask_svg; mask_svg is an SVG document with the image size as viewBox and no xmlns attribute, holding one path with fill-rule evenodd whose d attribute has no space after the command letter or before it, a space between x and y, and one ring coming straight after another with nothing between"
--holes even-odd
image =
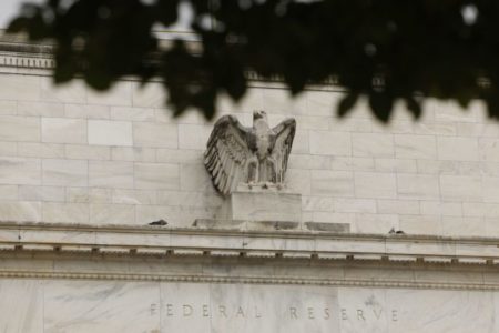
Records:
<instances>
[{"instance_id":1,"label":"marble band carved with FEDERAL RESERVE below the cornice","mask_svg":"<svg viewBox=\"0 0 499 333\"><path fill-rule=\"evenodd\" d=\"M498 294L162 282L0 281L2 332L497 332ZM19 297L22 295L23 297ZM431 305L429 306L429 302ZM455 319L461 325L457 326Z\"/></svg>"}]
</instances>

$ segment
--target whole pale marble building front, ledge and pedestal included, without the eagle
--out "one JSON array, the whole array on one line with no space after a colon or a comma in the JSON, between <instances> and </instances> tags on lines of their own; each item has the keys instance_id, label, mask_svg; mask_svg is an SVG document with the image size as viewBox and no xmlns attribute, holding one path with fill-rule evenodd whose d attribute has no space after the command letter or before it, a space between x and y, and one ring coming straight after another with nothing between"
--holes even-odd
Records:
<instances>
[{"instance_id":1,"label":"whole pale marble building front, ledge and pedestal included, without the eagle","mask_svg":"<svg viewBox=\"0 0 499 333\"><path fill-rule=\"evenodd\" d=\"M43 48L0 40L0 332L499 331L480 102L384 125L364 102L336 119L336 87L252 81L218 115L295 118L287 183L227 201L202 162L213 122L173 119L160 83L55 88Z\"/></svg>"}]
</instances>

